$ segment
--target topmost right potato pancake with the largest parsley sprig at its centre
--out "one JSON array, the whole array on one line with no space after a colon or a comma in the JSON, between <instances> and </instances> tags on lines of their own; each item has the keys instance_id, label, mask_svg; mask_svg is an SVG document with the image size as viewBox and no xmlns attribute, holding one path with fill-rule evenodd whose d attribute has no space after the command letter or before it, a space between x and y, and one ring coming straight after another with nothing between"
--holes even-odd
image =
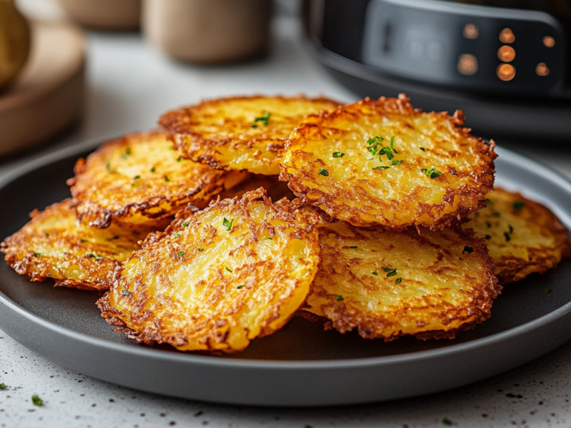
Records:
<instances>
[{"instance_id":1,"label":"topmost right potato pancake with the largest parsley sprig at its centre","mask_svg":"<svg viewBox=\"0 0 571 428\"><path fill-rule=\"evenodd\" d=\"M357 226L442 229L485 206L494 147L457 111L423 113L384 98L310 116L288 139L281 180L305 203Z\"/></svg>"}]
</instances>

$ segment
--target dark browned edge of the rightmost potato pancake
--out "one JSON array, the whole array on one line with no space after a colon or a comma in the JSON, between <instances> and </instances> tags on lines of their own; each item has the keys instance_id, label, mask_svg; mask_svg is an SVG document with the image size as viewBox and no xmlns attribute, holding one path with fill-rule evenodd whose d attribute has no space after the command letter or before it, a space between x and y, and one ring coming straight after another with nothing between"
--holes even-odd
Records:
<instances>
[{"instance_id":1,"label":"dark browned edge of the rightmost potato pancake","mask_svg":"<svg viewBox=\"0 0 571 428\"><path fill-rule=\"evenodd\" d=\"M561 258L569 257L571 254L569 230L561 223L557 215L552 213L545 205L525 198L521 193L512 194L525 203L525 208L532 211L531 218L545 218L547 220L547 229L555 238L555 248L561 251ZM496 260L497 277L501 284L510 284L511 282L522 280L531 273L544 273L557 266L561 261L555 255L545 258L545 251L537 248L528 248L527 250L530 255L529 261L509 255L502 255L500 260ZM532 270L530 270L530 267Z\"/></svg>"}]
</instances>

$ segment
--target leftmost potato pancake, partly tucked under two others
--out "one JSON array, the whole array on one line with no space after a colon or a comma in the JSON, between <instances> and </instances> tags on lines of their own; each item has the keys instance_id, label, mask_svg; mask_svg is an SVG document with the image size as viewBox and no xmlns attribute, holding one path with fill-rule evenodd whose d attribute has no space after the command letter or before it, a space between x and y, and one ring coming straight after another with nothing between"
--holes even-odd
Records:
<instances>
[{"instance_id":1,"label":"leftmost potato pancake, partly tucked under two others","mask_svg":"<svg viewBox=\"0 0 571 428\"><path fill-rule=\"evenodd\" d=\"M107 290L113 270L127 260L151 231L148 228L106 229L81 225L71 200L34 210L31 221L1 243L6 262L32 281L46 278L56 285L84 290Z\"/></svg>"}]
</instances>

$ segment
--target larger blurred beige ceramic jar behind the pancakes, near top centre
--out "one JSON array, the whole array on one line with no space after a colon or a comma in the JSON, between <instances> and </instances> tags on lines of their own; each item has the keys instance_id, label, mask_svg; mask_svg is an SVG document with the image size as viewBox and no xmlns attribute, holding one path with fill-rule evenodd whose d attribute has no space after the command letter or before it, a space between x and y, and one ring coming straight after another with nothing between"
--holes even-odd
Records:
<instances>
[{"instance_id":1,"label":"larger blurred beige ceramic jar behind the pancakes, near top centre","mask_svg":"<svg viewBox=\"0 0 571 428\"><path fill-rule=\"evenodd\" d=\"M271 0L143 0L143 31L180 61L220 63L268 46Z\"/></svg>"}]
</instances>

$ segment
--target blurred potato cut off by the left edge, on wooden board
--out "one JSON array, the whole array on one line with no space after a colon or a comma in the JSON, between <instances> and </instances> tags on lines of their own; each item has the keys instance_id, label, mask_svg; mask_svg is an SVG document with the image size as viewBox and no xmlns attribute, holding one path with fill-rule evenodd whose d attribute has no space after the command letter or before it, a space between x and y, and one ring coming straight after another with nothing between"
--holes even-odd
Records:
<instances>
[{"instance_id":1,"label":"blurred potato cut off by the left edge, on wooden board","mask_svg":"<svg viewBox=\"0 0 571 428\"><path fill-rule=\"evenodd\" d=\"M30 26L11 0L0 0L0 90L24 68L30 51Z\"/></svg>"}]
</instances>

